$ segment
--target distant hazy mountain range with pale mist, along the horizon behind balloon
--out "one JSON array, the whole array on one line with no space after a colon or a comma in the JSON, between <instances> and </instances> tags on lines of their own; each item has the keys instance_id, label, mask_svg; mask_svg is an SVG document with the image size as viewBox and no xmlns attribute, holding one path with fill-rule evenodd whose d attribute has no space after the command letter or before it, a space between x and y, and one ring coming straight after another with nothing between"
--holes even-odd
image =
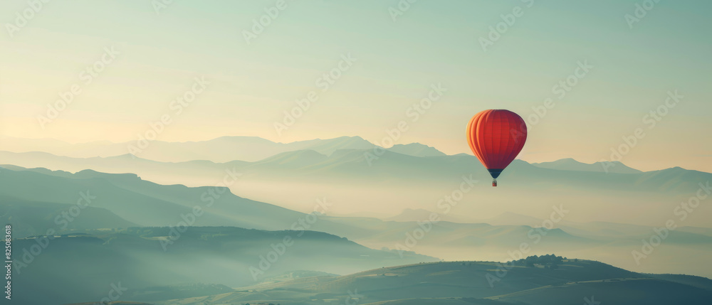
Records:
<instances>
[{"instance_id":1,"label":"distant hazy mountain range with pale mist, along the horizon behind balloon","mask_svg":"<svg viewBox=\"0 0 712 305\"><path fill-rule=\"evenodd\" d=\"M0 163L78 172L91 168L106 173L132 173L149 181L186 186L224 185L241 196L278 203L309 213L317 198L335 205L330 215L395 216L406 208L437 210L439 200L459 188L464 177L477 181L464 194L451 219L472 222L512 212L545 219L553 203L577 208L568 218L659 225L675 216L681 200L707 189L712 174L684 168L617 172L572 159L551 164L515 160L502 173L497 188L489 186L487 171L474 156L411 156L384 151L370 159L372 149L286 151L259 161L152 161L130 154L74 158L44 152L0 151ZM555 165L555 166L554 166ZM555 167L555 168L551 168ZM239 173L234 183L222 183L227 172ZM703 188L705 187L705 188ZM279 190L279 191L276 191ZM555 196L555 200L550 200ZM516 203L527 202L526 205ZM488 203L488 204L478 204ZM455 210L455 209L453 209ZM617 213L607 213L615 210ZM647 210L649 213L639 213ZM700 213L685 225L708 226Z\"/></svg>"}]
</instances>

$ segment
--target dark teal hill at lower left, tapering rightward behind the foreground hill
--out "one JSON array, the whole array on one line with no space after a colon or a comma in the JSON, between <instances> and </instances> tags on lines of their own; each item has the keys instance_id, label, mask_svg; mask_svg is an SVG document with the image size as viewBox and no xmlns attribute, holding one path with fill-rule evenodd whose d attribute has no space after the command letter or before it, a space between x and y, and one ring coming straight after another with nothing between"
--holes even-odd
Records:
<instances>
[{"instance_id":1,"label":"dark teal hill at lower left, tapering rightward behind the foreground hill","mask_svg":"<svg viewBox=\"0 0 712 305\"><path fill-rule=\"evenodd\" d=\"M98 301L112 284L127 289L122 293L124 301L132 301L132 297L149 301L167 294L174 298L225 290L203 283L241 287L295 270L348 274L402 262L437 260L414 254L401 257L396 252L372 250L342 237L305 230L162 227L85 230L50 237L13 241L18 253L13 269L13 301ZM33 247L38 245L42 247L37 253ZM192 284L192 288L176 287L186 284Z\"/></svg>"}]
</instances>

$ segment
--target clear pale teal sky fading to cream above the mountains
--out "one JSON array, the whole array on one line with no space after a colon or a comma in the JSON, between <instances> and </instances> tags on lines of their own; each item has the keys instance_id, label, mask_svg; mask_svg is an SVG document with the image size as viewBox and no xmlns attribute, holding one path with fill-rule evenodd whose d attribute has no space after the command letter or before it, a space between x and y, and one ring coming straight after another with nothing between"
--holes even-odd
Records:
<instances>
[{"instance_id":1,"label":"clear pale teal sky fading to cream above the mountains","mask_svg":"<svg viewBox=\"0 0 712 305\"><path fill-rule=\"evenodd\" d=\"M712 172L710 9L709 1L6 0L0 136L360 136L471 154L468 120L510 109L529 125L526 161ZM394 137L399 122L407 130Z\"/></svg>"}]
</instances>

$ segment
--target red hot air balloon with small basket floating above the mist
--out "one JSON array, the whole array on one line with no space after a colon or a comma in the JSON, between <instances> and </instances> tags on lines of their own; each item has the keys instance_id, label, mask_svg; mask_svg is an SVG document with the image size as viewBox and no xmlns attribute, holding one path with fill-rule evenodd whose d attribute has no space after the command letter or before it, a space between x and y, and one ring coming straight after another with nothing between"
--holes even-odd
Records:
<instances>
[{"instance_id":1,"label":"red hot air balloon with small basket floating above the mist","mask_svg":"<svg viewBox=\"0 0 712 305\"><path fill-rule=\"evenodd\" d=\"M492 175L492 186L497 186L497 177L522 151L526 140L527 125L509 110L485 110L467 124L467 143Z\"/></svg>"}]
</instances>

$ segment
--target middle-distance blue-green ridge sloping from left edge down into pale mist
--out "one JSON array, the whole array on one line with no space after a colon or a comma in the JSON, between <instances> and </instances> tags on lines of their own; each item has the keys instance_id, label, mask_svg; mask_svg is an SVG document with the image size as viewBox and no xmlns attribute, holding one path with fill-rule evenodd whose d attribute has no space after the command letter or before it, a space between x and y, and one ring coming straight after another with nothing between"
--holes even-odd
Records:
<instances>
[{"instance_id":1,"label":"middle-distance blue-green ridge sloping from left edge down into pale mist","mask_svg":"<svg viewBox=\"0 0 712 305\"><path fill-rule=\"evenodd\" d=\"M85 197L91 198L90 203L83 202L86 206L81 208L78 200ZM50 229L66 235L110 228L222 225L328 232L373 249L395 251L399 257L419 253L441 259L503 260L511 257L508 249L526 243L531 248L528 254L555 251L571 257L586 255L639 272L712 274L712 269L704 267L664 263L672 253L700 264L700 259L712 254L712 228L684 223L666 234L664 247L656 249L645 264L637 264L630 252L639 249L640 240L655 234L657 227L562 218L552 223L553 228L546 228L547 219L517 213L467 222L459 219L459 213L424 209L406 211L396 219L340 217L328 215L324 208L335 205L328 199L323 205L313 202L317 211L308 214L236 196L224 187L160 185L135 174L17 166L0 169L0 198L0 219L15 223L14 236L19 238L46 235ZM72 209L78 215L68 218ZM431 221L431 215L437 220ZM174 244L180 247L182 240L170 246Z\"/></svg>"}]
</instances>

